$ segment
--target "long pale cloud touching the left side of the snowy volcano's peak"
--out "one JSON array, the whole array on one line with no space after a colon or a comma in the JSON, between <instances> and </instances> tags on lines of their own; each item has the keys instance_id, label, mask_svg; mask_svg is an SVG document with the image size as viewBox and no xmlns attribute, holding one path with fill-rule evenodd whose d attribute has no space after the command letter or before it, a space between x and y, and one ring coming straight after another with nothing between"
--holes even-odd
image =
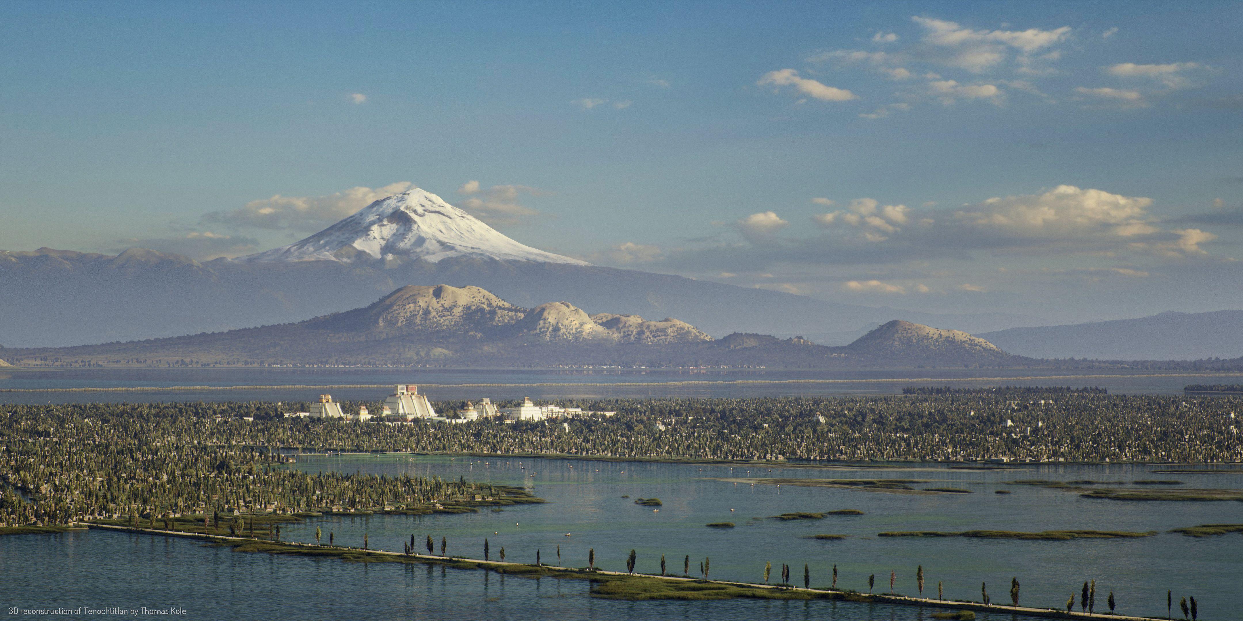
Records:
<instances>
[{"instance_id":1,"label":"long pale cloud touching the left side of the snowy volcano's peak","mask_svg":"<svg viewBox=\"0 0 1243 621\"><path fill-rule=\"evenodd\" d=\"M205 222L218 222L232 229L288 229L318 231L338 220L353 215L372 202L403 193L414 184L398 181L383 188L351 188L323 196L281 196L250 201L232 211L213 211L203 217Z\"/></svg>"}]
</instances>

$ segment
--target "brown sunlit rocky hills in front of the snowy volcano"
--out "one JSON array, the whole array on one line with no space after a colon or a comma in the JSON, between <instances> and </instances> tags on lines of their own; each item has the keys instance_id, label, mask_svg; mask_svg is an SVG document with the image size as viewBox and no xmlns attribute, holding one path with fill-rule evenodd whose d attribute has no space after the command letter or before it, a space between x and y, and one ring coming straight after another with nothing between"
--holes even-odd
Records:
<instances>
[{"instance_id":1,"label":"brown sunlit rocky hills in front of the snowy volcano","mask_svg":"<svg viewBox=\"0 0 1243 621\"><path fill-rule=\"evenodd\" d=\"M15 364L338 364L452 366L996 366L1023 364L965 332L888 322L846 347L763 334L713 339L672 318L525 308L479 287L406 286L364 308L189 337L4 349Z\"/></svg>"}]
</instances>

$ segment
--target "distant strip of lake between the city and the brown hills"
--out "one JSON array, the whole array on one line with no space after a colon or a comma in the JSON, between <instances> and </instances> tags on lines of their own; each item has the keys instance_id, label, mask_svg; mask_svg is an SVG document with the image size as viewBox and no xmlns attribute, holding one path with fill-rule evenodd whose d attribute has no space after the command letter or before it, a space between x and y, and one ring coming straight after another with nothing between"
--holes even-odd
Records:
<instances>
[{"instance_id":1,"label":"distant strip of lake between the city and the brown hills","mask_svg":"<svg viewBox=\"0 0 1243 621\"><path fill-rule=\"evenodd\" d=\"M978 388L1104 386L1116 394L1182 394L1187 384L1241 383L1243 374L1074 369L47 369L0 371L0 404L144 401L379 400L385 388L419 384L433 400L648 396L891 395L910 385ZM5 392L77 388L206 386L203 390ZM276 386L229 389L229 386ZM280 388L291 386L291 388ZM297 386L297 388L295 388ZM215 390L211 390L211 389Z\"/></svg>"}]
</instances>

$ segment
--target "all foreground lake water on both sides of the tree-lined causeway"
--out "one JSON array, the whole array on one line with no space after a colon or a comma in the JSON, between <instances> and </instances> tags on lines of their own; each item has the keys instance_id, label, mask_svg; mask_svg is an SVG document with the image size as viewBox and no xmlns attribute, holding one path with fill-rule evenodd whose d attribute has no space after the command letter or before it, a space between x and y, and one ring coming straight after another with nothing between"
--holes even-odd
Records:
<instances>
[{"instance_id":1,"label":"all foreground lake water on both sides of the tree-lined causeway","mask_svg":"<svg viewBox=\"0 0 1243 621\"><path fill-rule=\"evenodd\" d=\"M465 477L469 481L522 484L547 504L507 507L466 515L374 515L318 518L283 529L286 540L314 540L332 533L338 544L400 550L415 535L430 534L449 553L481 556L484 538L493 558L587 565L620 570L630 549L639 571L659 571L664 554L681 573L691 556L711 559L711 578L762 580L764 561L792 566L802 581L808 564L812 584L828 585L839 569L839 587L915 594L915 568L924 566L926 594L938 581L946 597L979 599L988 584L993 601L1007 601L1012 576L1022 582L1022 602L1060 606L1083 581L1096 580L1098 611L1108 610L1110 591L1119 612L1163 615L1165 592L1175 600L1193 595L1202 617L1239 619L1243 594L1243 535L1195 539L1166 533L1206 523L1241 523L1237 502L1119 502L1085 499L1076 493L1006 484L1022 478L1094 479L1130 484L1172 478L1182 487L1241 488L1243 474L1161 474L1150 466L1040 466L1007 471L927 468L748 468L580 460L449 458L436 456L300 456L308 471ZM860 489L717 481L727 477L912 478L915 487L960 487L970 494L912 496ZM1006 489L1013 493L993 493ZM630 498L623 498L629 496ZM658 497L659 512L634 504ZM735 509L735 510L730 510ZM786 512L859 509L864 515L781 522ZM712 529L710 522L733 522ZM1141 539L996 540L966 538L878 538L886 530L1157 530ZM807 537L845 534L843 540ZM291 619L367 615L377 619L457 616L477 619L842 619L930 620L932 611L850 602L618 602L593 599L582 581L502 578L482 571L426 566L354 565L334 560L280 558L205 548L195 542L88 532L65 535L0 538L0 592L5 606L21 605L180 605L190 619ZM1012 619L1006 615L1007 619ZM987 619L987 616L981 616ZM1001 619L999 616L997 619Z\"/></svg>"}]
</instances>

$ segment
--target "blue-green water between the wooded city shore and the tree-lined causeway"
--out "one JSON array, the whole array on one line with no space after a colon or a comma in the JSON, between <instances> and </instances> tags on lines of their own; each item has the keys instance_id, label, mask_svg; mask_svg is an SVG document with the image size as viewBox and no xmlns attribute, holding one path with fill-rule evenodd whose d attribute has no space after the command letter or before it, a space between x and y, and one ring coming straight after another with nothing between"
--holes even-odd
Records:
<instances>
[{"instance_id":1,"label":"blue-green water between the wooded city shore and the tree-lined causeway","mask_svg":"<svg viewBox=\"0 0 1243 621\"><path fill-rule=\"evenodd\" d=\"M692 573L699 560L712 559L711 575L722 579L759 580L764 561L797 568L809 564L813 584L828 584L838 565L839 586L866 590L869 574L885 585L890 570L897 573L896 589L914 594L915 568L924 565L925 592L942 581L950 599L978 599L982 581L991 584L994 601L1007 600L1009 580L1023 584L1023 601L1058 606L1083 581L1095 579L1099 602L1112 590L1121 611L1155 615L1163 607L1165 591L1195 595L1206 611L1243 610L1237 578L1243 575L1243 535L1187 538L1166 530L1208 523L1243 523L1238 502L1119 502L1080 498L1078 493L1007 481L1043 478L1058 481L1177 479L1187 488L1239 488L1243 474L1162 474L1146 466L1044 466L1009 471L927 468L746 468L663 463L614 463L574 460L447 458L390 456L305 456L305 469L410 473L465 477L471 481L520 483L532 487L548 504L511 507L501 513L430 515L421 518L378 515L323 518L291 528L286 538L313 539L318 525L337 542L360 545L363 533L373 546L400 550L415 534L423 545L428 534L439 546L469 556L482 554L482 538L496 554L587 564L589 548L597 564L620 570L630 549L638 551L640 571L658 571L660 555L680 571L691 555ZM750 469L750 472L748 472ZM960 487L971 494L912 496L860 489L716 481L727 477L788 478L912 478L930 483L914 487ZM1162 486L1163 487L1163 486ZM1006 489L1011 494L996 494ZM630 498L622 498L629 496ZM634 504L656 497L659 512ZM735 510L730 510L735 509ZM786 512L859 509L864 515L833 515L823 520L781 522L768 518ZM733 522L733 529L711 529L710 522ZM1142 539L998 540L966 538L878 538L886 530L1157 530ZM569 533L569 537L567 537ZM818 533L845 534L844 540L805 539ZM327 534L324 534L327 537ZM776 571L776 570L774 570ZM1177 597L1176 597L1177 599ZM1104 607L1104 605L1101 605Z\"/></svg>"}]
</instances>

